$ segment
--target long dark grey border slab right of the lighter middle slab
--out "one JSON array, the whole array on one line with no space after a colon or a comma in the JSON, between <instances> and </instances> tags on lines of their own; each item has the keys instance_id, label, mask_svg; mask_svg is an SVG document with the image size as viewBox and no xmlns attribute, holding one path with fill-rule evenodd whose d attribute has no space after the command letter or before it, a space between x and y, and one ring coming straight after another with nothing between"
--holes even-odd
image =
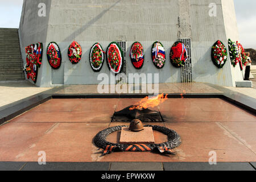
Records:
<instances>
[{"instance_id":1,"label":"long dark grey border slab right of the lighter middle slab","mask_svg":"<svg viewBox=\"0 0 256 182\"><path fill-rule=\"evenodd\" d=\"M249 163L163 163L165 171L254 171Z\"/></svg>"}]
</instances>

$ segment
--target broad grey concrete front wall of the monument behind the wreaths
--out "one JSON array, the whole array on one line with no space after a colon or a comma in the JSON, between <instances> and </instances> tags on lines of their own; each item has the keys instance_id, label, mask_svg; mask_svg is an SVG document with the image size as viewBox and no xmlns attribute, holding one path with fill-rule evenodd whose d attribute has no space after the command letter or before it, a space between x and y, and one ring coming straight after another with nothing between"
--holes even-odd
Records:
<instances>
[{"instance_id":1,"label":"broad grey concrete front wall of the monument behind the wreaths","mask_svg":"<svg viewBox=\"0 0 256 182\"><path fill-rule=\"evenodd\" d=\"M210 3L217 5L214 17L209 16ZM233 1L230 0L230 3ZM100 73L92 71L89 65L90 47L100 42L106 49L110 42L117 40L127 42L127 74L159 73L160 82L180 82L181 70L172 67L170 48L178 38L191 38L193 80L235 86L234 80L238 78L234 77L230 61L223 69L217 69L210 57L214 42L220 39L228 47L227 34L238 35L234 26L236 23L227 20L234 14L230 3L221 0L52 0L44 48L49 42L57 42L63 64L60 69L52 70L44 52L43 74L37 85L97 84L98 74L109 74L110 71L106 62ZM77 65L72 65L67 56L68 46L73 40L81 44L83 51ZM167 64L163 69L156 69L151 60L151 47L156 40L161 41L166 49ZM133 68L129 58L131 44L135 41L142 43L146 53L146 62L139 71Z\"/></svg>"}]
</instances>

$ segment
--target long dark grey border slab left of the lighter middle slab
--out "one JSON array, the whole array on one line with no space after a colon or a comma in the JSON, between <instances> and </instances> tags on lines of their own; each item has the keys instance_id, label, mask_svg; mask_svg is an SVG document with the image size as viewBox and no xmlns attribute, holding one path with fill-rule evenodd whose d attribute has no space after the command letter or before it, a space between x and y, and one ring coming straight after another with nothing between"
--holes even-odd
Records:
<instances>
[{"instance_id":1,"label":"long dark grey border slab left of the lighter middle slab","mask_svg":"<svg viewBox=\"0 0 256 182\"><path fill-rule=\"evenodd\" d=\"M109 163L50 162L39 165L37 162L28 162L22 171L109 171Z\"/></svg>"}]
</instances>

